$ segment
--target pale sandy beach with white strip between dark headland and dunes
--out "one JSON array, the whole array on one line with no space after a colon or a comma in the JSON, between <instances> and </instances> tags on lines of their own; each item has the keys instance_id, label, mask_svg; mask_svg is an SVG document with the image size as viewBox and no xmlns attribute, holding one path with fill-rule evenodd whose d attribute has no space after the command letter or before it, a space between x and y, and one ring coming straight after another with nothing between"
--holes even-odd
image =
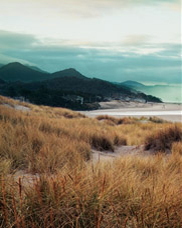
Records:
<instances>
[{"instance_id":1,"label":"pale sandy beach with white strip between dark headland and dunes","mask_svg":"<svg viewBox=\"0 0 182 228\"><path fill-rule=\"evenodd\" d=\"M93 111L84 111L83 114L89 117L99 115L110 115L114 117L152 117L156 116L167 121L182 122L182 104L172 103L140 103L109 101L101 102L101 108Z\"/></svg>"}]
</instances>

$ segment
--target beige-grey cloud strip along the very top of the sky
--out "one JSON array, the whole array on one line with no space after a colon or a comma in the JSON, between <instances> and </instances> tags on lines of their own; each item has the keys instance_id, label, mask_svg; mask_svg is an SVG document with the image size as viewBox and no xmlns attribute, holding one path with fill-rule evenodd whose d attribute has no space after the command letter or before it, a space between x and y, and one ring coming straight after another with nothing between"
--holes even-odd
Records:
<instances>
[{"instance_id":1,"label":"beige-grey cloud strip along the very top of the sky","mask_svg":"<svg viewBox=\"0 0 182 228\"><path fill-rule=\"evenodd\" d=\"M180 0L1 0L1 7L6 13L13 9L22 14L34 13L46 16L64 15L66 17L97 17L106 12L120 11L136 6L164 6L171 9L180 9ZM24 11L19 12L19 9ZM12 12L13 14L16 12Z\"/></svg>"}]
</instances>

